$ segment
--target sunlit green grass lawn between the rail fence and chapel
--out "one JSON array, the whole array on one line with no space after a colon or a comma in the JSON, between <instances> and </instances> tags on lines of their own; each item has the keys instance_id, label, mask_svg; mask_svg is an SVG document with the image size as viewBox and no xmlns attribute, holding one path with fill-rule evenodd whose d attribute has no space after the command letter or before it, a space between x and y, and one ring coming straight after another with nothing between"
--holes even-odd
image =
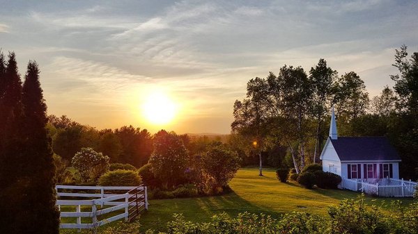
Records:
<instances>
[{"instance_id":1,"label":"sunlit green grass lawn between the rail fence and chapel","mask_svg":"<svg viewBox=\"0 0 418 234\"><path fill-rule=\"evenodd\" d=\"M317 215L326 215L330 205L342 199L354 199L359 193L346 190L307 190L295 183L280 183L273 169L265 169L264 176L258 176L256 168L242 168L230 185L230 194L216 197L191 199L150 200L148 211L138 219L141 233L148 228L161 228L172 219L173 213L183 213L185 219L193 222L208 222L212 215L226 212L237 215L240 212L254 212L278 217L283 212L304 211ZM377 203L398 199L367 197ZM405 205L412 199L401 199ZM121 225L115 222L109 225Z\"/></svg>"}]
</instances>

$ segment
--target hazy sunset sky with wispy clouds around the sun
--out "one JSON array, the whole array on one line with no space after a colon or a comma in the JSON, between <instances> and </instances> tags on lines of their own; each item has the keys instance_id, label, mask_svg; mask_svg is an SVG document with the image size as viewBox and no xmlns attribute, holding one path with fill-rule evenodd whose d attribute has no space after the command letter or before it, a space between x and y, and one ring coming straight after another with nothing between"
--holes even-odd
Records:
<instances>
[{"instance_id":1,"label":"hazy sunset sky with wispy clouds around the sun","mask_svg":"<svg viewBox=\"0 0 418 234\"><path fill-rule=\"evenodd\" d=\"M229 133L249 79L325 58L371 97L396 74L394 51L418 51L418 1L5 1L0 47L20 74L40 66L48 113L101 128ZM153 124L142 106L176 106Z\"/></svg>"}]
</instances>

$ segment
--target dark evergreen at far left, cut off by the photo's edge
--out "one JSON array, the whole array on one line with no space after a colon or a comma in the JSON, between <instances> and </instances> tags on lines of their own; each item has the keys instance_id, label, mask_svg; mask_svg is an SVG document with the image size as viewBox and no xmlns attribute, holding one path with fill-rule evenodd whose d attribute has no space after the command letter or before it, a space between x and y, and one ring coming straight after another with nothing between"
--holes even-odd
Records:
<instances>
[{"instance_id":1,"label":"dark evergreen at far left, cut off by the photo's edge","mask_svg":"<svg viewBox=\"0 0 418 234\"><path fill-rule=\"evenodd\" d=\"M4 69L4 61L1 62ZM0 97L0 233L16 233L16 216L24 212L22 191L28 183L19 177L22 172L22 81L17 72L15 53L9 53L8 65L1 74L3 96ZM28 163L28 162L26 162Z\"/></svg>"}]
</instances>

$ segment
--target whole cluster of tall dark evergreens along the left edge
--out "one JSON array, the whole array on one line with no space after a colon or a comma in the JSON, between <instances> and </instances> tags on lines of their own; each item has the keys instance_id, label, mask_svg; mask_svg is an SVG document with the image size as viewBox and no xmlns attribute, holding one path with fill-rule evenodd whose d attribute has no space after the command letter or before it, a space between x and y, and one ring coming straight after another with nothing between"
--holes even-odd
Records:
<instances>
[{"instance_id":1,"label":"whole cluster of tall dark evergreens along the left edge","mask_svg":"<svg viewBox=\"0 0 418 234\"><path fill-rule=\"evenodd\" d=\"M59 233L55 167L38 64L22 87L15 53L0 56L0 233ZM13 212L10 212L13 210Z\"/></svg>"}]
</instances>

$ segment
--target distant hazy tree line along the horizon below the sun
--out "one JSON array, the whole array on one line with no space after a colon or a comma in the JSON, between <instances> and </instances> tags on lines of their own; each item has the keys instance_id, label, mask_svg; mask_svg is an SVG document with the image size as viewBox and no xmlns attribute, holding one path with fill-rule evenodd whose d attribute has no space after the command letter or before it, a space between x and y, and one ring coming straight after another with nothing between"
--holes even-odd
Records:
<instances>
[{"instance_id":1,"label":"distant hazy tree line along the horizon below the sun","mask_svg":"<svg viewBox=\"0 0 418 234\"><path fill-rule=\"evenodd\" d=\"M132 125L98 130L92 126L79 124L65 115L61 117L49 115L47 129L52 138L54 153L61 156L67 165L70 165L72 157L78 151L84 147L91 147L108 156L111 163L127 163L137 168L148 163L156 137L166 132L161 130L152 135L147 129ZM203 153L211 142L226 142L222 136L217 135L181 134L178 137L183 141L190 155Z\"/></svg>"}]
</instances>

